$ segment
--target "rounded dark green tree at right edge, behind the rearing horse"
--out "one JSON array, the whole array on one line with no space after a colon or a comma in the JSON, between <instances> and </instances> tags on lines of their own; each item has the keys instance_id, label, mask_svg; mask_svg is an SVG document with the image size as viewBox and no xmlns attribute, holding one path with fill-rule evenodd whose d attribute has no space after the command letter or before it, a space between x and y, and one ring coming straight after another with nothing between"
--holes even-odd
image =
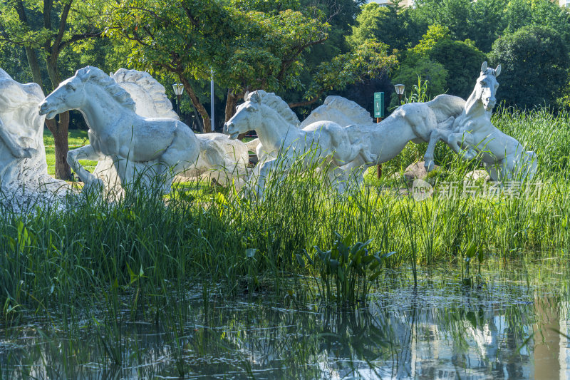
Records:
<instances>
[{"instance_id":1,"label":"rounded dark green tree at right edge, behind the rearing horse","mask_svg":"<svg viewBox=\"0 0 570 380\"><path fill-rule=\"evenodd\" d=\"M501 63L498 98L509 106L554 106L568 83L568 49L558 32L544 26L525 26L499 38L489 58Z\"/></svg>"}]
</instances>

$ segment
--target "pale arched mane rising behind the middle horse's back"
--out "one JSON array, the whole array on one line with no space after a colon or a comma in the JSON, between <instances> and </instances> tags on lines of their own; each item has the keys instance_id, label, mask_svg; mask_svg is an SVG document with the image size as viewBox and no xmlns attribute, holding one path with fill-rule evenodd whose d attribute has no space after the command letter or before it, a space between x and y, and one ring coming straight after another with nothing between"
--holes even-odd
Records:
<instances>
[{"instance_id":1,"label":"pale arched mane rising behind the middle horse's back","mask_svg":"<svg viewBox=\"0 0 570 380\"><path fill-rule=\"evenodd\" d=\"M299 126L305 128L316 121L333 121L341 127L353 124L372 124L373 119L366 109L342 96L327 96L323 105L318 106Z\"/></svg>"}]
</instances>

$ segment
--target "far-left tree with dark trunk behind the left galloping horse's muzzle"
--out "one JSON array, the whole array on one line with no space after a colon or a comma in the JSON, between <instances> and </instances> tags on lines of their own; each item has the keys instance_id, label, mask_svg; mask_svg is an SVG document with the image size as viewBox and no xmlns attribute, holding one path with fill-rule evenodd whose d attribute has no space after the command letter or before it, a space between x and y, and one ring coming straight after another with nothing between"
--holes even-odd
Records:
<instances>
[{"instance_id":1,"label":"far-left tree with dark trunk behind the left galloping horse's muzzle","mask_svg":"<svg viewBox=\"0 0 570 380\"><path fill-rule=\"evenodd\" d=\"M20 46L26 51L33 81L46 93L62 80L61 56L74 43L100 36L94 19L98 10L89 1L11 0L0 2L0 45ZM43 80L47 72L48 83ZM46 120L56 145L56 178L68 179L69 113Z\"/></svg>"}]
</instances>

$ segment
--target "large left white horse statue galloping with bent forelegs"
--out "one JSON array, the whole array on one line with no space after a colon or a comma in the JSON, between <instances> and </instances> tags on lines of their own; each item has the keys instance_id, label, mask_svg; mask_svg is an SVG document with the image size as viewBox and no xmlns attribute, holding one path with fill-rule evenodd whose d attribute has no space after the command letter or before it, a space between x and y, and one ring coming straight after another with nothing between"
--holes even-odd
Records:
<instances>
[{"instance_id":1,"label":"large left white horse statue galloping with bent forelegs","mask_svg":"<svg viewBox=\"0 0 570 380\"><path fill-rule=\"evenodd\" d=\"M54 118L71 109L81 111L90 128L90 145L68 155L71 168L88 188L103 187L103 182L78 163L79 156L92 160L110 156L123 185L140 176L133 164L148 163L145 182L162 177L166 191L173 177L165 175L168 170L180 173L197 161L199 141L190 127L174 119L137 115L129 94L98 68L87 66L63 81L43 101L40 114Z\"/></svg>"}]
</instances>

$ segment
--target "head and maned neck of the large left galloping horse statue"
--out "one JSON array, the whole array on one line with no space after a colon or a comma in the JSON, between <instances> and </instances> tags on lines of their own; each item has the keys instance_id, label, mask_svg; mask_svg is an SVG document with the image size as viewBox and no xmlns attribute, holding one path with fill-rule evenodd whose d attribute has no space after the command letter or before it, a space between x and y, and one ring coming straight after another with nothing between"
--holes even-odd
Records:
<instances>
[{"instance_id":1,"label":"head and maned neck of the large left galloping horse statue","mask_svg":"<svg viewBox=\"0 0 570 380\"><path fill-rule=\"evenodd\" d=\"M93 92L95 85L103 91ZM121 88L117 82L102 70L87 66L76 71L76 75L61 82L40 105L40 115L53 119L58 113L69 110L80 110L88 101L94 99L100 103L100 108L105 108L103 94L112 98L119 106L135 112L135 102L127 91Z\"/></svg>"}]
</instances>

